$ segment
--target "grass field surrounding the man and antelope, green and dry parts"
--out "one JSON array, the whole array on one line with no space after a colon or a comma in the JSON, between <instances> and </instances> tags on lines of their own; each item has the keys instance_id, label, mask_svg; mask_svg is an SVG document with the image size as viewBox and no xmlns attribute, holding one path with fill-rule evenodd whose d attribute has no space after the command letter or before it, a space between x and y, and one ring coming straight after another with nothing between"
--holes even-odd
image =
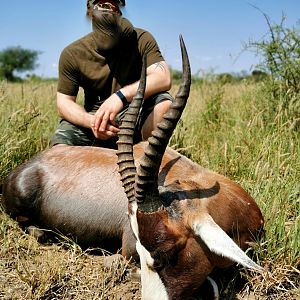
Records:
<instances>
[{"instance_id":1,"label":"grass field surrounding the man and antelope, green and dry parts","mask_svg":"<svg viewBox=\"0 0 300 300\"><path fill-rule=\"evenodd\" d=\"M48 147L58 122L55 96L56 82L0 83L0 179ZM274 102L264 82L192 85L170 145L241 184L265 217L265 235L253 257L268 271L240 269L221 287L221 299L239 299L248 291L254 299L300 299L299 129L299 115ZM63 237L57 244L39 244L3 212L0 243L0 299L139 297L139 284L126 277L126 263L106 269L103 256ZM236 295L229 290L240 273L245 284Z\"/></svg>"}]
</instances>

